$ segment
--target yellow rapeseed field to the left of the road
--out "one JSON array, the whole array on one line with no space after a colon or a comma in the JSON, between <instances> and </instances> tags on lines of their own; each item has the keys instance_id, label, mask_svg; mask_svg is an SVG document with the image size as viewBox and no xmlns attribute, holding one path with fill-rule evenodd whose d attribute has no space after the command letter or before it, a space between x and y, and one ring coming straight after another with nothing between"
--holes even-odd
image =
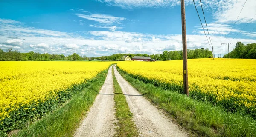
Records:
<instances>
[{"instance_id":1,"label":"yellow rapeseed field to the left of the road","mask_svg":"<svg viewBox=\"0 0 256 137\"><path fill-rule=\"evenodd\" d=\"M31 103L58 100L59 91L96 77L111 63L0 62L0 121L25 106L23 110L35 111Z\"/></svg>"}]
</instances>

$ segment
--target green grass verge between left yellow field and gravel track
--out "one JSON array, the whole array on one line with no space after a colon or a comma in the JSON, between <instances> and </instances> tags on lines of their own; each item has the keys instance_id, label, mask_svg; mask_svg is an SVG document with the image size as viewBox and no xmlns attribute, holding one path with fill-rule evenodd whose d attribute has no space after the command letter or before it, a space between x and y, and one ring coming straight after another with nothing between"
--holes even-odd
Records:
<instances>
[{"instance_id":1,"label":"green grass verge between left yellow field and gravel track","mask_svg":"<svg viewBox=\"0 0 256 137\"><path fill-rule=\"evenodd\" d=\"M108 69L90 80L90 86L74 95L66 104L47 114L41 120L21 130L17 137L72 137L80 120L83 118L102 87Z\"/></svg>"}]
</instances>

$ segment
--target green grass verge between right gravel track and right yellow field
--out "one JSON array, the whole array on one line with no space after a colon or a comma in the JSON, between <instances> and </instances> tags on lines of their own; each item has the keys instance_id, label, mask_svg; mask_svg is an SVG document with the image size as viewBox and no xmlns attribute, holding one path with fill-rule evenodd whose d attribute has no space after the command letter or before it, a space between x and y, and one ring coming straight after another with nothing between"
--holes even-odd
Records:
<instances>
[{"instance_id":1,"label":"green grass verge between right gravel track and right yellow field","mask_svg":"<svg viewBox=\"0 0 256 137\"><path fill-rule=\"evenodd\" d=\"M143 96L165 110L182 127L196 136L256 137L256 120L230 113L211 103L191 99L178 91L164 90L144 83L116 67Z\"/></svg>"}]
</instances>

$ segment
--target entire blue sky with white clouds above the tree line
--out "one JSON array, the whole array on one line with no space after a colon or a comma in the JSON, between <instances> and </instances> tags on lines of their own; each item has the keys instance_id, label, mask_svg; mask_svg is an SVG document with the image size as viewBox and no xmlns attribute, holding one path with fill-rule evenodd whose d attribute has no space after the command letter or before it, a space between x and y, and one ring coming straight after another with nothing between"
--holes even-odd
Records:
<instances>
[{"instance_id":1,"label":"entire blue sky with white clouds above the tree line","mask_svg":"<svg viewBox=\"0 0 256 137\"><path fill-rule=\"evenodd\" d=\"M256 29L250 32L256 27L255 0L201 1L216 57L223 55L221 43L232 43L230 50L237 41L256 43ZM185 3L188 48L211 48L193 1ZM89 57L181 50L180 0L2 0L0 48Z\"/></svg>"}]
</instances>

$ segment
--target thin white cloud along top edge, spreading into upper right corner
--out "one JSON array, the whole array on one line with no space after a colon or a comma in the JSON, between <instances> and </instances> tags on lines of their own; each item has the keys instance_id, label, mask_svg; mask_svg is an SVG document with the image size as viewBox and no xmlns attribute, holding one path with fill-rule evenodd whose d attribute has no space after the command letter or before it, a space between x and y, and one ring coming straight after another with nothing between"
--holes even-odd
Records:
<instances>
[{"instance_id":1,"label":"thin white cloud along top edge, spreading into upper right corner","mask_svg":"<svg viewBox=\"0 0 256 137\"><path fill-rule=\"evenodd\" d=\"M123 9L135 9L144 7L174 7L180 6L180 0L96 0L106 3L108 6L118 6ZM234 23L245 0L201 0L204 11L212 12L212 16L219 23ZM185 1L187 6L194 6L193 0ZM195 0L198 10L201 9L200 1ZM256 14L255 0L247 0L244 9L239 16L238 23L247 23ZM200 11L201 12L201 11ZM254 18L252 21L256 21Z\"/></svg>"}]
</instances>

